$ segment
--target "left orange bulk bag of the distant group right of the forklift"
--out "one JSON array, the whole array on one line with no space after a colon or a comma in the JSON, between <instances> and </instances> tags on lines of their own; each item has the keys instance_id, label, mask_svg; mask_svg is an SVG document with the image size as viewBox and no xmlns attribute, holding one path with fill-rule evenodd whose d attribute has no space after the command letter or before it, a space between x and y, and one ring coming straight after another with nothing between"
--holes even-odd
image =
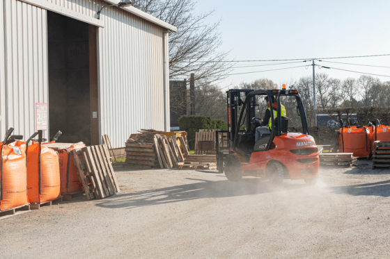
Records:
<instances>
[{"instance_id":1,"label":"left orange bulk bag of the distant group right of the forklift","mask_svg":"<svg viewBox=\"0 0 390 259\"><path fill-rule=\"evenodd\" d=\"M373 131L367 126L340 128L338 144L340 152L353 153L352 156L369 157Z\"/></svg>"}]
</instances>

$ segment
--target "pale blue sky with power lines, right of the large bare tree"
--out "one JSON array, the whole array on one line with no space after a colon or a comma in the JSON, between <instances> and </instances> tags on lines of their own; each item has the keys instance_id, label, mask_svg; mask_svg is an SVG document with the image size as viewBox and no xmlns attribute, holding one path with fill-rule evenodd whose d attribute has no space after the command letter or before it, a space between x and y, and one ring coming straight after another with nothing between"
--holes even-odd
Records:
<instances>
[{"instance_id":1,"label":"pale blue sky with power lines, right of the large bare tree","mask_svg":"<svg viewBox=\"0 0 390 259\"><path fill-rule=\"evenodd\" d=\"M231 1L198 0L195 12L216 9L208 22L221 19L221 51L231 51L229 60L269 60L325 58L390 54L390 1ZM325 60L324 60L325 61ZM361 65L390 67L390 56L329 60ZM232 73L254 72L307 65L308 62L247 67ZM270 62L239 63L260 65ZM318 64L358 72L390 76L390 68L318 62ZM238 66L236 65L236 66ZM331 77L359 78L361 74L336 69L315 69ZM221 87L257 78L275 83L297 81L310 76L312 67L229 76ZM381 81L390 77L374 76Z\"/></svg>"}]
</instances>

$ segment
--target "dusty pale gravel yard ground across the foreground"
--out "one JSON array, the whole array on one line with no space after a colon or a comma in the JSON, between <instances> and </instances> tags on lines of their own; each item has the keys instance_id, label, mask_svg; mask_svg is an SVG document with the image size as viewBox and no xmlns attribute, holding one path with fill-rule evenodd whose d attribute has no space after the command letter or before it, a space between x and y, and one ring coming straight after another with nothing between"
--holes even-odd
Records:
<instances>
[{"instance_id":1,"label":"dusty pale gravel yard ground across the foreground","mask_svg":"<svg viewBox=\"0 0 390 259\"><path fill-rule=\"evenodd\" d=\"M0 220L0 258L390 258L390 170L370 161L278 188L116 169L121 192Z\"/></svg>"}]
</instances>

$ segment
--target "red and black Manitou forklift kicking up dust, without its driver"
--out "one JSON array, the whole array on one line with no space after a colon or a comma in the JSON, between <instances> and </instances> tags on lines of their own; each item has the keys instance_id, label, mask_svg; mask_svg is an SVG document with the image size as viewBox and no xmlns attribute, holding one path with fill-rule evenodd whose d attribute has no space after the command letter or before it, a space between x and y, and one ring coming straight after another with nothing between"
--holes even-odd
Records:
<instances>
[{"instance_id":1,"label":"red and black Manitou forklift kicking up dust, without its driver","mask_svg":"<svg viewBox=\"0 0 390 259\"><path fill-rule=\"evenodd\" d=\"M219 173L224 172L229 181L256 176L267 178L275 185L281 184L283 179L304 179L306 184L314 184L320 166L319 152L314 138L309 135L298 91L286 90L283 85L282 90L228 90L226 94L228 131L216 132L217 140L227 133L224 147L220 147L220 141L216 142ZM255 142L261 112L267 108L261 108L265 97L275 100L276 105L272 104L277 116L270 112L272 130ZM286 116L281 116L282 103ZM295 132L288 132L288 128Z\"/></svg>"}]
</instances>

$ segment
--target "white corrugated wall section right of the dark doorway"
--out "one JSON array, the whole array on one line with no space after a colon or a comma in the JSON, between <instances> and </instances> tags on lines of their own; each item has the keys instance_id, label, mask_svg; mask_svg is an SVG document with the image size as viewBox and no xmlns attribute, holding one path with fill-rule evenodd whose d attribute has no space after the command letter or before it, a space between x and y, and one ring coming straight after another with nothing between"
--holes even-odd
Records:
<instances>
[{"instance_id":1,"label":"white corrugated wall section right of the dark doorway","mask_svg":"<svg viewBox=\"0 0 390 259\"><path fill-rule=\"evenodd\" d=\"M101 19L101 133L123 147L141 128L164 131L163 28L118 8L107 8Z\"/></svg>"}]
</instances>

